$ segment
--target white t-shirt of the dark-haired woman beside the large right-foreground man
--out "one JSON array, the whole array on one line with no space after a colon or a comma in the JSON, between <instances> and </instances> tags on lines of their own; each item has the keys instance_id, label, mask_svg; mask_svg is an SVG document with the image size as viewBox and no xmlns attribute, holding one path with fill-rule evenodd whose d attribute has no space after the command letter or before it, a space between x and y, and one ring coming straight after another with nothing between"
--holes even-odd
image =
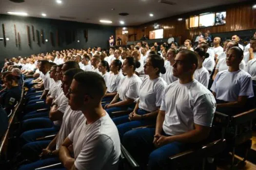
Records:
<instances>
[{"instance_id":1,"label":"white t-shirt of the dark-haired woman beside the large right-foreground man","mask_svg":"<svg viewBox=\"0 0 256 170\"><path fill-rule=\"evenodd\" d=\"M149 77L145 78L139 89L138 107L148 112L158 110L162 102L161 94L166 86L167 83L161 77L154 80L150 80Z\"/></svg>"}]
</instances>

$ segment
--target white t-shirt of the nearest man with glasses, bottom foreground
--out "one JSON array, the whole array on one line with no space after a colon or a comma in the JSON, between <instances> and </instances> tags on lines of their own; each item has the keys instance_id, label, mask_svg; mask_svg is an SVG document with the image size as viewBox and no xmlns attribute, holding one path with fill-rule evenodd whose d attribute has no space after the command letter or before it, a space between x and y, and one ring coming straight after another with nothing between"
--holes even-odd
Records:
<instances>
[{"instance_id":1,"label":"white t-shirt of the nearest man with glasses, bottom foreground","mask_svg":"<svg viewBox=\"0 0 256 170\"><path fill-rule=\"evenodd\" d=\"M81 121L68 138L73 142L76 169L118 170L120 139L108 115L91 124Z\"/></svg>"}]
</instances>

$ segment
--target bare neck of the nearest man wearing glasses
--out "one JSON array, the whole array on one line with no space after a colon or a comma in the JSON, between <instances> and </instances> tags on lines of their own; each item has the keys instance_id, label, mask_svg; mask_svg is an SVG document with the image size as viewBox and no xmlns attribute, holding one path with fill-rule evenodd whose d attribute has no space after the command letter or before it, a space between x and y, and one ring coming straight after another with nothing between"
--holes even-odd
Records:
<instances>
[{"instance_id":1,"label":"bare neck of the nearest man wearing glasses","mask_svg":"<svg viewBox=\"0 0 256 170\"><path fill-rule=\"evenodd\" d=\"M95 108L88 108L86 110L83 110L82 113L86 118L87 125L94 123L95 121L106 115L106 112L102 108L101 104L99 104Z\"/></svg>"}]
</instances>

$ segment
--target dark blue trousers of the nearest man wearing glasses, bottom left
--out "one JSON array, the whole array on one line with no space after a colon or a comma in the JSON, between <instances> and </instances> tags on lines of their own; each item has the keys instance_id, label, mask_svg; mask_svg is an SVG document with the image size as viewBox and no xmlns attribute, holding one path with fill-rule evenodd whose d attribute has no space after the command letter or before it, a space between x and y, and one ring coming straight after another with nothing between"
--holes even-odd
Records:
<instances>
[{"instance_id":1,"label":"dark blue trousers of the nearest man wearing glasses, bottom left","mask_svg":"<svg viewBox=\"0 0 256 170\"><path fill-rule=\"evenodd\" d=\"M22 165L22 166L20 166L19 170L35 170L36 168L57 164L59 162L60 161L59 161L58 157L43 159L43 160L39 160L37 162L33 162L31 164ZM47 170L49 170L49 169L47 169ZM57 170L57 169L55 169L55 170ZM65 169L61 168L60 170L65 170Z\"/></svg>"}]
</instances>

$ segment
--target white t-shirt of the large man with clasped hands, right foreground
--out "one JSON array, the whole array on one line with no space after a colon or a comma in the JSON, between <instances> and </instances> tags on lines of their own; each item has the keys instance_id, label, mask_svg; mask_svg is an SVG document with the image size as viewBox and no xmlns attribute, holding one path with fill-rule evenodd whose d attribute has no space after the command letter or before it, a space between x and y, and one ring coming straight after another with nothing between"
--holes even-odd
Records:
<instances>
[{"instance_id":1,"label":"white t-shirt of the large man with clasped hands, right foreground","mask_svg":"<svg viewBox=\"0 0 256 170\"><path fill-rule=\"evenodd\" d=\"M180 135L194 130L194 124L212 126L216 101L204 85L197 80L168 85L162 93L160 110L165 111L163 131L167 135Z\"/></svg>"}]
</instances>

